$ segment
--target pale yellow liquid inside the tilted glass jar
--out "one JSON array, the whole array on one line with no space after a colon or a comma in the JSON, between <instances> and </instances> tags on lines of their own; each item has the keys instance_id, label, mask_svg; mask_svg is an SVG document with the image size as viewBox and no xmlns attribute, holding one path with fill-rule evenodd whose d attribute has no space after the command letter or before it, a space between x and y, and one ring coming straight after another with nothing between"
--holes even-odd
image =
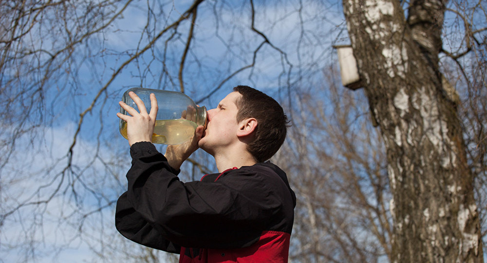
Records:
<instances>
[{"instance_id":1,"label":"pale yellow liquid inside the tilted glass jar","mask_svg":"<svg viewBox=\"0 0 487 263\"><path fill-rule=\"evenodd\" d=\"M198 125L188 120L158 120L155 121L152 143L180 144L193 137ZM127 137L127 123L122 124L120 133Z\"/></svg>"}]
</instances>

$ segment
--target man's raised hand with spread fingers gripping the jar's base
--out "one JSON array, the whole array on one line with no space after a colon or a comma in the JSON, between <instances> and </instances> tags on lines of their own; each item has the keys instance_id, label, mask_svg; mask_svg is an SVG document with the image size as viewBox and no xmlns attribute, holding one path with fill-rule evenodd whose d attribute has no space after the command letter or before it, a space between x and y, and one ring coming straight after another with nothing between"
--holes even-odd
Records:
<instances>
[{"instance_id":1,"label":"man's raised hand with spread fingers gripping the jar's base","mask_svg":"<svg viewBox=\"0 0 487 263\"><path fill-rule=\"evenodd\" d=\"M134 92L129 92L129 96L137 105L139 112L131 106L119 102L120 106L125 109L131 116L117 113L118 118L127 122L127 137L129 144L132 146L135 142L149 141L152 142L152 133L154 132L155 119L157 116L157 99L153 93L150 94L150 113L147 113L144 102Z\"/></svg>"}]
</instances>

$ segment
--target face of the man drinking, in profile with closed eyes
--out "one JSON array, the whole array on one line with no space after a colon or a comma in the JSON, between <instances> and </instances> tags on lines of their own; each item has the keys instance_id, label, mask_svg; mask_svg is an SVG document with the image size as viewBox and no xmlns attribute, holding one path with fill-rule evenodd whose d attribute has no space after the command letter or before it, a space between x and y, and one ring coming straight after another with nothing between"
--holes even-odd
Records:
<instances>
[{"instance_id":1,"label":"face of the man drinking, in profile with closed eyes","mask_svg":"<svg viewBox=\"0 0 487 263\"><path fill-rule=\"evenodd\" d=\"M235 140L238 140L238 108L235 101L242 97L236 91L228 94L216 108L208 110L208 123L198 146L215 156Z\"/></svg>"}]
</instances>

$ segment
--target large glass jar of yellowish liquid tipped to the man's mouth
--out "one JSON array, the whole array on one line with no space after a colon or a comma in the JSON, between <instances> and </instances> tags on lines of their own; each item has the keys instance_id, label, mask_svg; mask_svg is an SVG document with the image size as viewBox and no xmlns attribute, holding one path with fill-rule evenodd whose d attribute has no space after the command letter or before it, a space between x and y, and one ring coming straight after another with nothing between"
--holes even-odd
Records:
<instances>
[{"instance_id":1,"label":"large glass jar of yellowish liquid tipped to the man's mouth","mask_svg":"<svg viewBox=\"0 0 487 263\"><path fill-rule=\"evenodd\" d=\"M144 102L147 112L150 111L150 93L157 98L157 117L155 121L152 143L180 144L194 135L196 127L203 125L206 128L206 107L197 106L186 94L176 91L130 88L122 96L122 101L137 109L137 105L129 96L133 91ZM123 108L120 113L129 115ZM127 137L127 122L120 119L120 133Z\"/></svg>"}]
</instances>

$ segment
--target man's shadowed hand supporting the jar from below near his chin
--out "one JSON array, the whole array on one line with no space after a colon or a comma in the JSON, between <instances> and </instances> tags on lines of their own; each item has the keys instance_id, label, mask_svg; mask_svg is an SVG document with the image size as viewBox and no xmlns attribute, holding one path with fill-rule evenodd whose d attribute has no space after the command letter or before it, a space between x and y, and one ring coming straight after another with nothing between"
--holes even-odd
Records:
<instances>
[{"instance_id":1,"label":"man's shadowed hand supporting the jar from below near his chin","mask_svg":"<svg viewBox=\"0 0 487 263\"><path fill-rule=\"evenodd\" d=\"M198 141L203 136L205 127L200 125L196 127L193 137L191 139L177 145L168 145L164 156L168 159L169 165L175 170L179 170L183 162L189 158L189 156L198 150Z\"/></svg>"}]
</instances>

